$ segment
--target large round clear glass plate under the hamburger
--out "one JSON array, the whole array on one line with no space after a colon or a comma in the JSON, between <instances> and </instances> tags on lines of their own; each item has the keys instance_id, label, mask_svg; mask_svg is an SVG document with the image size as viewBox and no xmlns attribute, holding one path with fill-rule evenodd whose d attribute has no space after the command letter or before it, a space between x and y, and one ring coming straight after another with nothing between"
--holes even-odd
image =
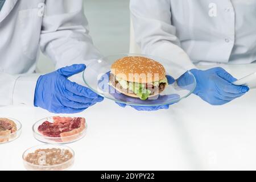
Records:
<instances>
[{"instance_id":1,"label":"large round clear glass plate under the hamburger","mask_svg":"<svg viewBox=\"0 0 256 182\"><path fill-rule=\"evenodd\" d=\"M142 56L158 61L166 69L166 74L172 76L175 81L168 85L158 96L148 98L148 100L143 101L139 98L125 96L109 85L109 72L116 60L126 56ZM171 60L130 53L103 57L89 64L83 73L83 79L85 84L97 94L115 102L137 106L174 104L188 97L196 88L196 79L193 74Z\"/></svg>"}]
</instances>

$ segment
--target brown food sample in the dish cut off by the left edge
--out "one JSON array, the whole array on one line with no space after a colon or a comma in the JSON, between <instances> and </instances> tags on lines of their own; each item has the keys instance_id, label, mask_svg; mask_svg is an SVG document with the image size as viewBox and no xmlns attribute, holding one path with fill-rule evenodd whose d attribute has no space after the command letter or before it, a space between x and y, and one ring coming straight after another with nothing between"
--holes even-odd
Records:
<instances>
[{"instance_id":1,"label":"brown food sample in the dish cut off by the left edge","mask_svg":"<svg viewBox=\"0 0 256 182\"><path fill-rule=\"evenodd\" d=\"M10 135L16 131L17 127L14 121L7 118L0 118L0 143L8 142Z\"/></svg>"}]
</instances>

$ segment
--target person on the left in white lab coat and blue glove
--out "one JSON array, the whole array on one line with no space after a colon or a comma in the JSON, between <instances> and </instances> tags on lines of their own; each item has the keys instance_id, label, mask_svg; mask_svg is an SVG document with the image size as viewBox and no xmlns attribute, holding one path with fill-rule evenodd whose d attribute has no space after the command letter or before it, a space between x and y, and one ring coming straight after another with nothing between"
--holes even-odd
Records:
<instances>
[{"instance_id":1,"label":"person on the left in white lab coat and blue glove","mask_svg":"<svg viewBox=\"0 0 256 182\"><path fill-rule=\"evenodd\" d=\"M0 105L77 113L102 101L68 80L100 56L87 26L82 0L0 0ZM39 48L57 71L35 74Z\"/></svg>"}]
</instances>

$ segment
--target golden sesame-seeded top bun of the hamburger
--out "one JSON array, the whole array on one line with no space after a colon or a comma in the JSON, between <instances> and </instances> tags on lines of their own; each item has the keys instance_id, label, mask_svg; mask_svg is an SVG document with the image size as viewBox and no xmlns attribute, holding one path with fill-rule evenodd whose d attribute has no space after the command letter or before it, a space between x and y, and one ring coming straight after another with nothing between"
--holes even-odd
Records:
<instances>
[{"instance_id":1,"label":"golden sesame-seeded top bun of the hamburger","mask_svg":"<svg viewBox=\"0 0 256 182\"><path fill-rule=\"evenodd\" d=\"M127 56L115 61L111 73L122 80L141 84L166 78L166 70L162 64L140 56Z\"/></svg>"}]
</instances>

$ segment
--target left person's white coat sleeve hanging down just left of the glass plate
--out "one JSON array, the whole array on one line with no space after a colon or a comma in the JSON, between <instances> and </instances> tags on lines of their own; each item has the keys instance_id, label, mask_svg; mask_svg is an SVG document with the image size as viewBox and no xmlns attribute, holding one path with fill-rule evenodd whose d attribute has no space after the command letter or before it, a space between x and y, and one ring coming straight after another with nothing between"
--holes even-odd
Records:
<instances>
[{"instance_id":1,"label":"left person's white coat sleeve hanging down just left of the glass plate","mask_svg":"<svg viewBox=\"0 0 256 182\"><path fill-rule=\"evenodd\" d=\"M40 47L57 68L88 65L101 57L89 36L83 1L46 0Z\"/></svg>"}]
</instances>

